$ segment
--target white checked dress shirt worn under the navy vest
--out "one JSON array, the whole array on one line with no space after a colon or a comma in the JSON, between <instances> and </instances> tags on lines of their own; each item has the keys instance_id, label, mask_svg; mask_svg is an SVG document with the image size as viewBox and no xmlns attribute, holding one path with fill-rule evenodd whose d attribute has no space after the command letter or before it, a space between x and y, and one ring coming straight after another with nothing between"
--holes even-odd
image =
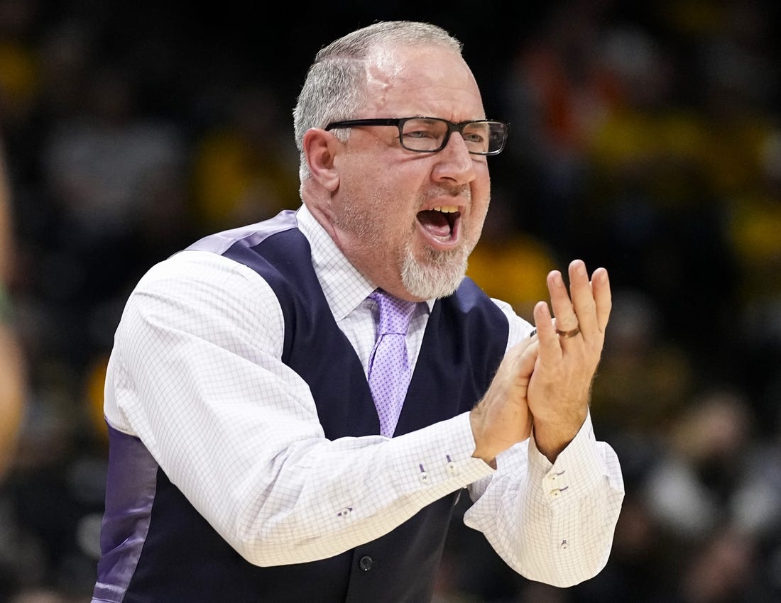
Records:
<instances>
[{"instance_id":1,"label":"white checked dress shirt worn under the navy vest","mask_svg":"<svg viewBox=\"0 0 781 603\"><path fill-rule=\"evenodd\" d=\"M374 287L305 207L297 215L333 317L366 371ZM529 335L532 325L495 303L508 316L508 347ZM419 304L412 317L412 362L432 304ZM138 282L106 377L109 424L141 438L249 562L337 555L465 487L475 501L465 523L524 576L569 586L607 562L623 483L590 417L552 465L533 438L498 456L496 470L473 458L469 413L397 438L330 441L308 385L280 360L283 338L280 304L259 274L187 250Z\"/></svg>"}]
</instances>

